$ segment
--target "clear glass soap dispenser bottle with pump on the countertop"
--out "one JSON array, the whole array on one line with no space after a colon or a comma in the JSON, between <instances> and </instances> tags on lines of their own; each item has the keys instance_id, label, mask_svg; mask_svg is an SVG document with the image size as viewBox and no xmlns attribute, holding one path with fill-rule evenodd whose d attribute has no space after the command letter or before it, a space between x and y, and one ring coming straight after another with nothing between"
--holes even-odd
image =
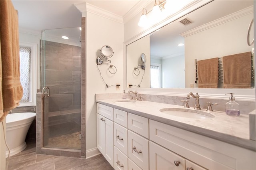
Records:
<instances>
[{"instance_id":1,"label":"clear glass soap dispenser bottle with pump on the countertop","mask_svg":"<svg viewBox=\"0 0 256 170\"><path fill-rule=\"evenodd\" d=\"M226 93L225 95L230 94L231 97L229 97L230 101L226 103L226 114L230 116L239 116L240 115L240 109L239 104L235 101L235 97L233 97L234 93Z\"/></svg>"}]
</instances>

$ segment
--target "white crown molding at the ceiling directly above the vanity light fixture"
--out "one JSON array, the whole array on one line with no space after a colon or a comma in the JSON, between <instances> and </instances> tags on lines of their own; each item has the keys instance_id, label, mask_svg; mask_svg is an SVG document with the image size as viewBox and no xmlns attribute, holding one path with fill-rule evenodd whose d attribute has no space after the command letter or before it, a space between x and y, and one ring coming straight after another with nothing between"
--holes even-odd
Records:
<instances>
[{"instance_id":1,"label":"white crown molding at the ceiling directly above the vanity light fixture","mask_svg":"<svg viewBox=\"0 0 256 170\"><path fill-rule=\"evenodd\" d=\"M134 18L134 16L142 13L142 9L146 8L152 2L154 2L154 0L140 0L129 12L124 15L124 24Z\"/></svg>"}]
</instances>

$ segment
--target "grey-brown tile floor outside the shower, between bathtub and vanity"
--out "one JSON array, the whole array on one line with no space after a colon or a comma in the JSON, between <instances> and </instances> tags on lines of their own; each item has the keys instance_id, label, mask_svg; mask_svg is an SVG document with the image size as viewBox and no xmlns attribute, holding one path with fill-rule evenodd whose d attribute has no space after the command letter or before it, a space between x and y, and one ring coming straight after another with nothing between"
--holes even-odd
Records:
<instances>
[{"instance_id":1,"label":"grey-brown tile floor outside the shower, between bathtub and vanity","mask_svg":"<svg viewBox=\"0 0 256 170\"><path fill-rule=\"evenodd\" d=\"M7 163L7 158L6 158ZM10 157L8 170L114 170L100 154L89 159L36 154L36 144Z\"/></svg>"}]
</instances>

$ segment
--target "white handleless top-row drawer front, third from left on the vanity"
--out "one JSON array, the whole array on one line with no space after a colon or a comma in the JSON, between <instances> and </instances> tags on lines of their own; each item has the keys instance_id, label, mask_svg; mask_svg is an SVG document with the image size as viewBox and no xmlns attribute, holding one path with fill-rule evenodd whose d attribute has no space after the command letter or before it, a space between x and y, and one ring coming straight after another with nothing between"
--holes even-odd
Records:
<instances>
[{"instance_id":1,"label":"white handleless top-row drawer front, third from left on the vanity","mask_svg":"<svg viewBox=\"0 0 256 170\"><path fill-rule=\"evenodd\" d=\"M148 118L128 113L128 129L148 138Z\"/></svg>"}]
</instances>

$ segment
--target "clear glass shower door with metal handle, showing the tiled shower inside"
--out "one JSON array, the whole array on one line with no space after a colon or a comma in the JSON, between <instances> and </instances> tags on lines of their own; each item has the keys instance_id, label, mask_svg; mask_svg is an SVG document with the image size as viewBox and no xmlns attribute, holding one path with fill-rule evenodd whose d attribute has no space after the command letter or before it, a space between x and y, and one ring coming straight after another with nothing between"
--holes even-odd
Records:
<instances>
[{"instance_id":1,"label":"clear glass shower door with metal handle, showing the tiled shower inside","mask_svg":"<svg viewBox=\"0 0 256 170\"><path fill-rule=\"evenodd\" d=\"M42 31L40 88L44 148L81 149L80 36L79 28Z\"/></svg>"}]
</instances>

